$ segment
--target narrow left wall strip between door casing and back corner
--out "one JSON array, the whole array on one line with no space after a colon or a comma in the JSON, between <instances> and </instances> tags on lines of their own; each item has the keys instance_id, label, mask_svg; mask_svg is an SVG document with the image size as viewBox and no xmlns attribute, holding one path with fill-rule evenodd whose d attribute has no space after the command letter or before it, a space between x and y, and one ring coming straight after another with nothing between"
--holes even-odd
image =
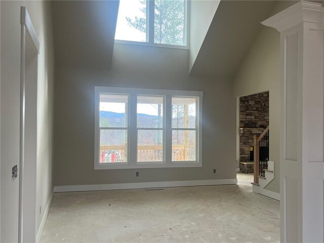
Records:
<instances>
[{"instance_id":1,"label":"narrow left wall strip between door casing and back corner","mask_svg":"<svg viewBox=\"0 0 324 243\"><path fill-rule=\"evenodd\" d=\"M45 3L41 22L44 33L38 35L41 51L37 83L37 230L41 230L39 227L54 190L54 43L51 4Z\"/></svg>"}]
</instances>

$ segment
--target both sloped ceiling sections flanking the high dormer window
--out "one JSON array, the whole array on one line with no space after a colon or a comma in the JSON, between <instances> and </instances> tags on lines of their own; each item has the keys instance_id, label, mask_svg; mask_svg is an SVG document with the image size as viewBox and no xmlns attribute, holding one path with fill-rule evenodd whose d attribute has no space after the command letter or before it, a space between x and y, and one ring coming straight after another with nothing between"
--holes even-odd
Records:
<instances>
[{"instance_id":1,"label":"both sloped ceiling sections flanking the high dormer window","mask_svg":"<svg viewBox=\"0 0 324 243\"><path fill-rule=\"evenodd\" d=\"M276 1L224 1L190 75L230 77ZM55 65L110 69L119 1L53 1Z\"/></svg>"}]
</instances>

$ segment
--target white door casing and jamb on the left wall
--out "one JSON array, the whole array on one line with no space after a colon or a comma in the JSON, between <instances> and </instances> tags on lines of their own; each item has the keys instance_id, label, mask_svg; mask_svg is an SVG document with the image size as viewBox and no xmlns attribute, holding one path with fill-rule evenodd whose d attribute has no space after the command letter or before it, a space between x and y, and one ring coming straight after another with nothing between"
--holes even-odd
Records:
<instances>
[{"instance_id":1,"label":"white door casing and jamb on the left wall","mask_svg":"<svg viewBox=\"0 0 324 243\"><path fill-rule=\"evenodd\" d=\"M25 7L21 7L21 123L19 242L36 240L37 59L39 42Z\"/></svg>"}]
</instances>

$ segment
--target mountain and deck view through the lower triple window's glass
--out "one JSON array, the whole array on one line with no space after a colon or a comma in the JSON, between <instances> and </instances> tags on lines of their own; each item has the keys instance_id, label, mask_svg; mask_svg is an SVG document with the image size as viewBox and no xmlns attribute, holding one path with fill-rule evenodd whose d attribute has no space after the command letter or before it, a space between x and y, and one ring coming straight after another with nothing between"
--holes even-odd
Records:
<instances>
[{"instance_id":1,"label":"mountain and deck view through the lower triple window's glass","mask_svg":"<svg viewBox=\"0 0 324 243\"><path fill-rule=\"evenodd\" d=\"M137 96L137 161L164 160L164 97ZM100 95L100 163L127 162L128 95ZM196 99L172 97L172 160L196 160ZM131 120L131 123L133 121Z\"/></svg>"}]
</instances>

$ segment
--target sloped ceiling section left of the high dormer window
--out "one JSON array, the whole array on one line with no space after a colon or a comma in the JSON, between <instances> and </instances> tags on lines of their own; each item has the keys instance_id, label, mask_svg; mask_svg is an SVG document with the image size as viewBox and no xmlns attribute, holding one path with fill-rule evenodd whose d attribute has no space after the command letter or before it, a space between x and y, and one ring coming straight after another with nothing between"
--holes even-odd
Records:
<instances>
[{"instance_id":1,"label":"sloped ceiling section left of the high dormer window","mask_svg":"<svg viewBox=\"0 0 324 243\"><path fill-rule=\"evenodd\" d=\"M53 1L55 65L110 69L119 1Z\"/></svg>"}]
</instances>

